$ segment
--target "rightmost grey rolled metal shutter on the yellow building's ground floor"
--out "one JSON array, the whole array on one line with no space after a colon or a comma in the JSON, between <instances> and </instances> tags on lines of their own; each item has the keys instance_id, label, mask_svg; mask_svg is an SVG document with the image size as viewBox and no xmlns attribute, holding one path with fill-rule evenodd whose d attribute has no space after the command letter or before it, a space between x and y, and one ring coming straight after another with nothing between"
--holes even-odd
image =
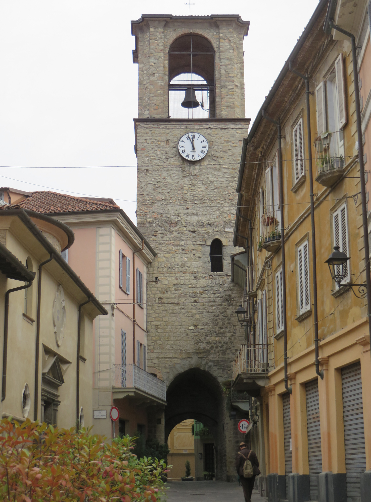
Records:
<instances>
[{"instance_id":1,"label":"rightmost grey rolled metal shutter on the yellow building's ground floor","mask_svg":"<svg viewBox=\"0 0 371 502\"><path fill-rule=\"evenodd\" d=\"M360 502L359 474L366 470L360 362L341 369L347 502Z\"/></svg>"}]
</instances>

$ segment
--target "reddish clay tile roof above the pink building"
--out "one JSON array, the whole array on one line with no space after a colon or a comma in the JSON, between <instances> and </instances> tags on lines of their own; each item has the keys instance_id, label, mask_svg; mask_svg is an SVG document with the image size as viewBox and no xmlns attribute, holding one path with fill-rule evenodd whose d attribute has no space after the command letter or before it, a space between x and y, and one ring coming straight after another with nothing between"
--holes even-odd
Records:
<instances>
[{"instance_id":1,"label":"reddish clay tile roof above the pink building","mask_svg":"<svg viewBox=\"0 0 371 502\"><path fill-rule=\"evenodd\" d=\"M109 200L111 202L74 197L73 195L65 195L63 193L41 191L32 192L30 197L26 197L17 202L14 206L44 214L120 209L120 206L112 203L114 202L112 199Z\"/></svg>"}]
</instances>

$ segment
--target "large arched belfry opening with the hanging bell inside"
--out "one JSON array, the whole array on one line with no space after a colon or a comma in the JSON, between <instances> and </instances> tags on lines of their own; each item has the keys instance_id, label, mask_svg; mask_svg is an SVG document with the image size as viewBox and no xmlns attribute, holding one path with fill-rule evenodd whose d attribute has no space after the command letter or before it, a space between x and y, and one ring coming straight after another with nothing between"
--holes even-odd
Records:
<instances>
[{"instance_id":1,"label":"large arched belfry opening with the hanging bell inside","mask_svg":"<svg viewBox=\"0 0 371 502\"><path fill-rule=\"evenodd\" d=\"M171 44L168 63L169 116L215 117L215 52L200 35L183 35Z\"/></svg>"}]
</instances>

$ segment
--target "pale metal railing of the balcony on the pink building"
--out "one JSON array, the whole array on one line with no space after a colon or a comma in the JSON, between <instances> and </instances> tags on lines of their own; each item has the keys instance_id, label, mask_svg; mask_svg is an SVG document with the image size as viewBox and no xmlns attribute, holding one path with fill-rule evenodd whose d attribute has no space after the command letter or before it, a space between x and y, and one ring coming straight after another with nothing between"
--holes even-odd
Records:
<instances>
[{"instance_id":1,"label":"pale metal railing of the balcony on the pink building","mask_svg":"<svg viewBox=\"0 0 371 502\"><path fill-rule=\"evenodd\" d=\"M113 387L140 389L166 401L166 384L135 364L114 364Z\"/></svg>"}]
</instances>

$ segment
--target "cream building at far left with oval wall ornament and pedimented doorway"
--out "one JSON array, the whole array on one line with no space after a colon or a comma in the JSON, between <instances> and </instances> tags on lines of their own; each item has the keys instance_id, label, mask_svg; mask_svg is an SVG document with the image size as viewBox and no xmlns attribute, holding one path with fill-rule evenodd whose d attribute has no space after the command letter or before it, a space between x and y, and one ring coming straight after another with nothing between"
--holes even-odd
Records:
<instances>
[{"instance_id":1,"label":"cream building at far left with oval wall ornament and pedimented doorway","mask_svg":"<svg viewBox=\"0 0 371 502\"><path fill-rule=\"evenodd\" d=\"M74 241L67 225L1 209L1 416L91 427L92 325L108 312L61 257Z\"/></svg>"}]
</instances>

